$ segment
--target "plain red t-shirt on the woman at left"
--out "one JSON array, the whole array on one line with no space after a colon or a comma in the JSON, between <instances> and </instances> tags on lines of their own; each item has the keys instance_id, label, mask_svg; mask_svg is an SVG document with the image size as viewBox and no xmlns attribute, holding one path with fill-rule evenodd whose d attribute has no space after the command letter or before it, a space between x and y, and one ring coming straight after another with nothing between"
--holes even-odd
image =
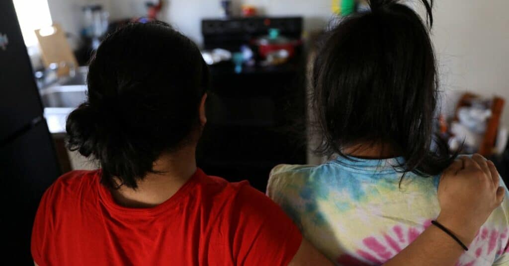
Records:
<instances>
[{"instance_id":1,"label":"plain red t-shirt on the woman at left","mask_svg":"<svg viewBox=\"0 0 509 266\"><path fill-rule=\"evenodd\" d=\"M32 256L45 265L286 265L302 237L284 212L247 182L198 169L154 208L125 208L99 171L72 171L44 194Z\"/></svg>"}]
</instances>

